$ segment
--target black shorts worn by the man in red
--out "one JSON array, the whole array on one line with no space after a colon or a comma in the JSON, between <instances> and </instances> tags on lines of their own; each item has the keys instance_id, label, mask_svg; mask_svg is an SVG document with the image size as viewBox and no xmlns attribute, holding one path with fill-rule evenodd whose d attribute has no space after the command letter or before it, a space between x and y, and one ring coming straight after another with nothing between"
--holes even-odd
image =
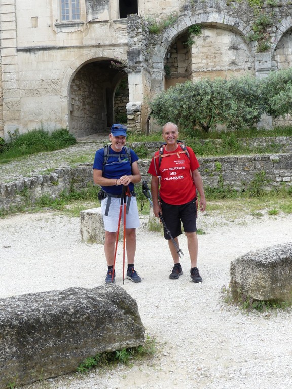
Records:
<instances>
[{"instance_id":1,"label":"black shorts worn by the man in red","mask_svg":"<svg viewBox=\"0 0 292 389\"><path fill-rule=\"evenodd\" d=\"M197 231L197 198L181 205L167 204L161 200L162 217L173 238L182 234L181 223L185 232ZM164 238L171 239L164 227Z\"/></svg>"}]
</instances>

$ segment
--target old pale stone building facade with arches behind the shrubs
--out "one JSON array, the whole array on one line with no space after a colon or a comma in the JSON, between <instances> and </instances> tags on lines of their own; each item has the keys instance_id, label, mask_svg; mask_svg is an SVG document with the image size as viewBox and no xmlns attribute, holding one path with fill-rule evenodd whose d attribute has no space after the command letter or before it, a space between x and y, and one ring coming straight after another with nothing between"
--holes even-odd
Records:
<instances>
[{"instance_id":1,"label":"old pale stone building facade with arches behind the shrubs","mask_svg":"<svg viewBox=\"0 0 292 389\"><path fill-rule=\"evenodd\" d=\"M0 137L41 126L77 137L102 132L116 119L125 77L128 127L147 132L154 126L148 101L170 85L290 67L290 0L254 3L0 0ZM153 20L170 17L151 32ZM190 41L194 25L201 33ZM255 39L259 26L264 51Z\"/></svg>"}]
</instances>

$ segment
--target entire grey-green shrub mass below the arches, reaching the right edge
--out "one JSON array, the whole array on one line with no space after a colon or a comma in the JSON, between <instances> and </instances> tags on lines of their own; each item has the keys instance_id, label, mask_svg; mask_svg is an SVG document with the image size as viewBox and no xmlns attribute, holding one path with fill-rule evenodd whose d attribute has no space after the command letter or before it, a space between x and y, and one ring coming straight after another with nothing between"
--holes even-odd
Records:
<instances>
[{"instance_id":1,"label":"entire grey-green shrub mass below the arches, reaching the right edge","mask_svg":"<svg viewBox=\"0 0 292 389\"><path fill-rule=\"evenodd\" d=\"M160 125L174 122L184 131L208 133L217 125L241 130L254 127L263 113L278 117L292 112L292 69L272 72L266 79L244 76L186 81L150 102Z\"/></svg>"}]
</instances>

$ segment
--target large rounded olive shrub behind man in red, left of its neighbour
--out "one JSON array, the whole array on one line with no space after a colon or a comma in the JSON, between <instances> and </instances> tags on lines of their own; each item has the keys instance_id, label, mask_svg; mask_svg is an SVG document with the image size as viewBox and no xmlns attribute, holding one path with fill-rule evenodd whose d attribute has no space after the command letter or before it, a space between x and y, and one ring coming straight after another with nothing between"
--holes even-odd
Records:
<instances>
[{"instance_id":1,"label":"large rounded olive shrub behind man in red, left of its neighbour","mask_svg":"<svg viewBox=\"0 0 292 389\"><path fill-rule=\"evenodd\" d=\"M227 128L253 125L261 112L257 87L251 85L251 79L186 81L157 95L150 103L151 114L161 125L171 121L205 132L218 124Z\"/></svg>"}]
</instances>

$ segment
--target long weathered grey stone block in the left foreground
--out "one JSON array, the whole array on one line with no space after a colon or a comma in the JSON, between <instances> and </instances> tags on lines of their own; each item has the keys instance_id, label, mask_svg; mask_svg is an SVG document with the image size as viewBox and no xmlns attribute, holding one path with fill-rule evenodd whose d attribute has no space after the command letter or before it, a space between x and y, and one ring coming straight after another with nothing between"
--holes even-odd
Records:
<instances>
[{"instance_id":1,"label":"long weathered grey stone block in the left foreground","mask_svg":"<svg viewBox=\"0 0 292 389\"><path fill-rule=\"evenodd\" d=\"M0 299L0 388L74 372L87 357L144 341L137 303L120 286Z\"/></svg>"}]
</instances>

